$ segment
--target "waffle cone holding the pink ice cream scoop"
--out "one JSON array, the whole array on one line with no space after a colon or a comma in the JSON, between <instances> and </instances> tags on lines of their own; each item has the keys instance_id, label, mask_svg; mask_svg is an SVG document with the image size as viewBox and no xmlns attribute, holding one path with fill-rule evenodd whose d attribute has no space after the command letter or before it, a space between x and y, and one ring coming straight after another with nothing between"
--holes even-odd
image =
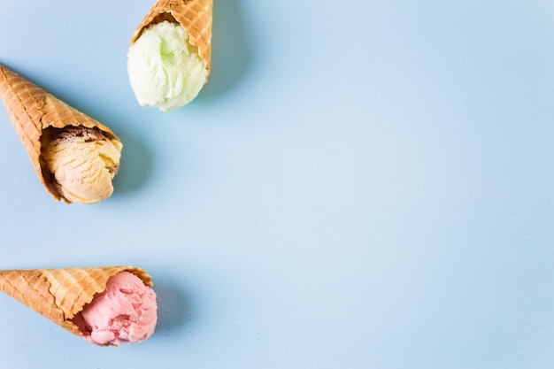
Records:
<instances>
[{"instance_id":1,"label":"waffle cone holding the pink ice cream scoop","mask_svg":"<svg viewBox=\"0 0 554 369\"><path fill-rule=\"evenodd\" d=\"M83 335L72 319L104 292L119 272L134 273L151 287L150 275L133 266L0 271L0 291L12 296L69 332Z\"/></svg>"}]
</instances>

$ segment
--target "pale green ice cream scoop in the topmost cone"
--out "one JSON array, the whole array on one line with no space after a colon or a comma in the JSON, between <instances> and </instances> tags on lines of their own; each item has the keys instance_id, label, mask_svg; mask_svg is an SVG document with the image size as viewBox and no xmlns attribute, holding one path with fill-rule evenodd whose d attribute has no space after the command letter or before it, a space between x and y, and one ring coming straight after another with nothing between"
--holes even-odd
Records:
<instances>
[{"instance_id":1,"label":"pale green ice cream scoop in the topmost cone","mask_svg":"<svg viewBox=\"0 0 554 369\"><path fill-rule=\"evenodd\" d=\"M127 73L139 104L172 111L198 95L208 69L185 28L165 20L147 28L131 45Z\"/></svg>"}]
</instances>

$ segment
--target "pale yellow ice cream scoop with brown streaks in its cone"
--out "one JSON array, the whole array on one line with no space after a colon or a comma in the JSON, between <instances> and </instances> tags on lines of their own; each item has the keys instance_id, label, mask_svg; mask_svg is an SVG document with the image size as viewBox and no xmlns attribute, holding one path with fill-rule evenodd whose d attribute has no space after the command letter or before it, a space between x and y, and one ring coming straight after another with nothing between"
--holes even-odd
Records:
<instances>
[{"instance_id":1,"label":"pale yellow ice cream scoop with brown streaks in its cone","mask_svg":"<svg viewBox=\"0 0 554 369\"><path fill-rule=\"evenodd\" d=\"M112 195L122 145L98 128L50 127L41 137L45 178L70 203L94 204Z\"/></svg>"}]
</instances>

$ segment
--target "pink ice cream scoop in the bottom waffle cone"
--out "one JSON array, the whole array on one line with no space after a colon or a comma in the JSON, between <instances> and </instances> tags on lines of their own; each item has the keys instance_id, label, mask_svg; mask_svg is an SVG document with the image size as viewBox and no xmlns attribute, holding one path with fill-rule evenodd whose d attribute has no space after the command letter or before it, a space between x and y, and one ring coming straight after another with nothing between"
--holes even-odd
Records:
<instances>
[{"instance_id":1,"label":"pink ice cream scoop in the bottom waffle cone","mask_svg":"<svg viewBox=\"0 0 554 369\"><path fill-rule=\"evenodd\" d=\"M101 346L136 343L154 333L157 310L154 290L135 274L120 272L73 322L88 342Z\"/></svg>"}]
</instances>

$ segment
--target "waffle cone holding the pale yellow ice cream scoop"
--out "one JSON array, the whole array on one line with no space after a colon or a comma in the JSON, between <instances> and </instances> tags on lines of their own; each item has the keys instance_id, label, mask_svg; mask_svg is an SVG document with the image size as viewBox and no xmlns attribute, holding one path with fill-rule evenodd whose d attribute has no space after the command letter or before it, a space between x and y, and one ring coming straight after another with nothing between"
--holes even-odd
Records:
<instances>
[{"instance_id":1,"label":"waffle cone holding the pale yellow ice cream scoop","mask_svg":"<svg viewBox=\"0 0 554 369\"><path fill-rule=\"evenodd\" d=\"M4 65L0 65L0 98L4 101L12 125L27 150L36 175L57 201L61 198L68 203L53 183L46 180L48 175L43 172L41 167L39 158L41 156L41 135L44 129L68 126L97 127L106 137L119 141L110 128L65 104Z\"/></svg>"}]
</instances>

